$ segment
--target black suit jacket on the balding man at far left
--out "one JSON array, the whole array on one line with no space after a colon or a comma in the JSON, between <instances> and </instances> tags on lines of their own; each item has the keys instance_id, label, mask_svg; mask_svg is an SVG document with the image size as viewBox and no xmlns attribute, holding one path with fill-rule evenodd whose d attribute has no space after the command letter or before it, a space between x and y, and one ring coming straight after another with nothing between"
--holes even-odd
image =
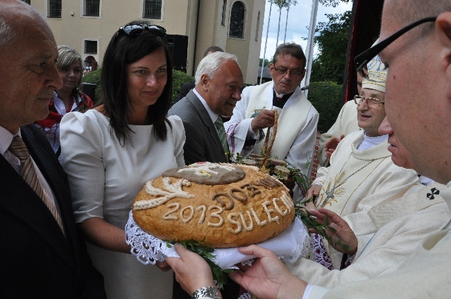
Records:
<instances>
[{"instance_id":1,"label":"black suit jacket on the balding man at far left","mask_svg":"<svg viewBox=\"0 0 451 299\"><path fill-rule=\"evenodd\" d=\"M0 298L106 298L103 277L76 231L65 172L34 125L21 132L55 194L66 236L40 197L0 156Z\"/></svg>"}]
</instances>

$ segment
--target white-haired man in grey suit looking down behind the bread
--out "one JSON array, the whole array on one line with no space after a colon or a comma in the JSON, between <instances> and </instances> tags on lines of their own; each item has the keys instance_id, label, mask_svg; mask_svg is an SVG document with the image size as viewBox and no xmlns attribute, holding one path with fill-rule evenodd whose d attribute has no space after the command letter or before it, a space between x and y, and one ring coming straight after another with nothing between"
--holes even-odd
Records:
<instances>
[{"instance_id":1,"label":"white-haired man in grey suit looking down behind the bread","mask_svg":"<svg viewBox=\"0 0 451 299\"><path fill-rule=\"evenodd\" d=\"M241 100L243 74L237 57L216 52L201 60L196 87L169 110L185 126L185 163L228 162L227 139L221 116L231 116Z\"/></svg>"}]
</instances>

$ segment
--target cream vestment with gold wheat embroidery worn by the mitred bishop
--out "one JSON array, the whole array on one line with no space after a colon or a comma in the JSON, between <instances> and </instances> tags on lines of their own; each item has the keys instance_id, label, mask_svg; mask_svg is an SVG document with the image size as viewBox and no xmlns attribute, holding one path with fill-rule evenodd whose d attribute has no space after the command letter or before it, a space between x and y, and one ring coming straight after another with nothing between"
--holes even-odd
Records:
<instances>
[{"instance_id":1,"label":"cream vestment with gold wheat embroidery worn by the mitred bishop","mask_svg":"<svg viewBox=\"0 0 451 299\"><path fill-rule=\"evenodd\" d=\"M329 167L321 167L314 182L323 183L316 206L336 212L356 235L375 233L368 211L390 197L402 196L418 181L414 170L398 167L391 161L386 141L358 150L364 131L352 132L339 143ZM334 269L339 269L341 253L323 239Z\"/></svg>"}]
</instances>

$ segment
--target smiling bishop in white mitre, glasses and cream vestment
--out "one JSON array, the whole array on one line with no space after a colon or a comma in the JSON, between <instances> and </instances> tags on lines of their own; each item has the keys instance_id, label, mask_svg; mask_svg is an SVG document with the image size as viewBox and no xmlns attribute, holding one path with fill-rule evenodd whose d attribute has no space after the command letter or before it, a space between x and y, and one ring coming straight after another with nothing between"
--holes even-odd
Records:
<instances>
[{"instance_id":1,"label":"smiling bishop in white mitre, glasses and cream vestment","mask_svg":"<svg viewBox=\"0 0 451 299\"><path fill-rule=\"evenodd\" d=\"M368 64L369 80L364 80L357 102L358 124L362 131L352 132L339 143L329 167L318 169L309 195L317 194L315 206L327 208L345 219L356 235L375 233L368 211L384 199L400 197L418 181L414 170L398 167L391 161L387 135L378 131L385 118L384 93L386 69L379 57ZM397 195L398 194L398 195ZM319 235L312 235L314 260L327 269L340 269L342 254Z\"/></svg>"}]
</instances>

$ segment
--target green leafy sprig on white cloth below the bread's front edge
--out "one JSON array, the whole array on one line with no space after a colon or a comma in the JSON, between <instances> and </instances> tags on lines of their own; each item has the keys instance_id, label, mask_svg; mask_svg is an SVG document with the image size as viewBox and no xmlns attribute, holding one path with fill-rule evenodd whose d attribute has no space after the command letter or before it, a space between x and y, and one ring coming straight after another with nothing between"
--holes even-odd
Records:
<instances>
[{"instance_id":1,"label":"green leafy sprig on white cloth below the bread's front edge","mask_svg":"<svg viewBox=\"0 0 451 299\"><path fill-rule=\"evenodd\" d=\"M204 242L205 238L199 243L194 239L188 239L188 240L182 240L182 241L171 241L167 243L167 246L169 248L172 248L173 244L179 243L180 245L182 245L183 247L187 248L189 251L192 251L194 253L197 253L198 255L201 255L201 257L203 257L203 259L205 260L205 262L207 262L207 264L210 266L210 269L212 269L212 273L213 273L213 279L216 280L219 288L223 289L223 285L226 283L227 281L227 274L228 273L232 273L233 269L226 269L223 270L221 269L220 266L218 266L217 264L214 264L214 262L212 262L212 258L214 258L216 255L213 255L212 253L214 252L214 248L208 246L205 242Z\"/></svg>"}]
</instances>

